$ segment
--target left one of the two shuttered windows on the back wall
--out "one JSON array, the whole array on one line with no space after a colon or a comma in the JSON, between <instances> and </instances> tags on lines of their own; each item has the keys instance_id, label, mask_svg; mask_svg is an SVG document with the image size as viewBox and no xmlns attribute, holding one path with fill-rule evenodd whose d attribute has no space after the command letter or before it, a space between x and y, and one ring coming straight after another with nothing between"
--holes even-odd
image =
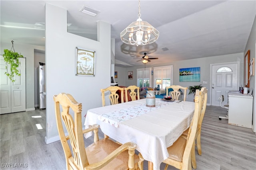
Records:
<instances>
[{"instance_id":1,"label":"left one of the two shuttered windows on the back wall","mask_svg":"<svg viewBox=\"0 0 256 170\"><path fill-rule=\"evenodd\" d=\"M151 68L137 69L137 86L138 87L150 87L150 72Z\"/></svg>"}]
</instances>

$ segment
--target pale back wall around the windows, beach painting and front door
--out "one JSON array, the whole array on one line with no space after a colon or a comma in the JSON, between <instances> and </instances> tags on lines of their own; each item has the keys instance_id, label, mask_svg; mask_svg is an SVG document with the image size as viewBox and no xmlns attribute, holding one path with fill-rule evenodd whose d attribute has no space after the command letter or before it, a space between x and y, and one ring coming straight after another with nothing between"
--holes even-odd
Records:
<instances>
[{"instance_id":1,"label":"pale back wall around the windows, beach painting and front door","mask_svg":"<svg viewBox=\"0 0 256 170\"><path fill-rule=\"evenodd\" d=\"M234 62L239 61L240 62L240 83L243 84L243 69L244 69L244 54L243 53L236 53L236 54L229 54L229 55L220 55L220 56L213 56L213 57L204 57L200 59L192 59L192 60L184 60L184 61L175 61L172 63L163 63L163 64L156 64L154 66L166 66L166 65L173 65L173 84L188 87L188 86L194 86L198 84L202 84L202 86L206 87L208 89L208 93L210 94L210 64L216 64L216 63L227 63L227 62ZM150 66L153 67L154 66ZM146 65L148 68L149 66ZM179 79L179 72L180 68L189 68L189 67L200 67L200 82L180 82ZM125 85L124 86L130 86L130 85L137 85L137 68L144 68L144 66L138 66L138 67L128 67L125 68L125 72L133 71L133 80L129 80L128 76L124 77ZM116 68L117 69L117 68ZM119 68L118 68L119 69ZM123 77L120 77L123 78ZM122 82L123 80L118 80ZM207 81L207 84L203 84L203 81ZM153 76L152 76L152 84L153 84ZM118 83L119 85L119 83ZM188 95L187 101L193 101L194 95L190 94ZM210 102L210 95L208 95L207 99L208 103Z\"/></svg>"}]
</instances>

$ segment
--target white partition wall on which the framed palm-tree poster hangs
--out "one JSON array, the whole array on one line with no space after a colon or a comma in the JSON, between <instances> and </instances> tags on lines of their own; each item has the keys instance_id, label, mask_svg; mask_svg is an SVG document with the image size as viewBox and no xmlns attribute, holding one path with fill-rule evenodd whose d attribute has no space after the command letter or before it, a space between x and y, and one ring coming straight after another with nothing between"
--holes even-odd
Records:
<instances>
[{"instance_id":1,"label":"white partition wall on which the framed palm-tree poster hangs","mask_svg":"<svg viewBox=\"0 0 256 170\"><path fill-rule=\"evenodd\" d=\"M59 140L53 96L71 94L88 109L102 106L100 89L110 86L110 24L98 22L98 41L67 32L67 11L46 4L46 143ZM76 76L76 47L96 51L95 76Z\"/></svg>"}]
</instances>

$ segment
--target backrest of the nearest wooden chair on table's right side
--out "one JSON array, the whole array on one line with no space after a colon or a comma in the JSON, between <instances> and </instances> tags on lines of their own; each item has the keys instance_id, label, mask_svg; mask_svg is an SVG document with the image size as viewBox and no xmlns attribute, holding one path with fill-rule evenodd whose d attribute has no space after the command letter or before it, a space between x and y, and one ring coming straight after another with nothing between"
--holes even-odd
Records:
<instances>
[{"instance_id":1,"label":"backrest of the nearest wooden chair on table's right side","mask_svg":"<svg viewBox=\"0 0 256 170\"><path fill-rule=\"evenodd\" d=\"M198 121L199 121L199 116L202 111L202 107L200 107L200 103L202 103L202 97L200 97L200 91L199 89L196 90L196 95L195 95L195 110L194 110L194 115L192 118L192 121L190 123L190 127L188 130L188 137L186 141L186 147L183 153L183 160L182 160L182 169L191 169L188 166L190 161L190 152L196 137L196 129L198 126ZM202 106L202 105L201 105ZM183 167L187 166L187 167Z\"/></svg>"}]
</instances>

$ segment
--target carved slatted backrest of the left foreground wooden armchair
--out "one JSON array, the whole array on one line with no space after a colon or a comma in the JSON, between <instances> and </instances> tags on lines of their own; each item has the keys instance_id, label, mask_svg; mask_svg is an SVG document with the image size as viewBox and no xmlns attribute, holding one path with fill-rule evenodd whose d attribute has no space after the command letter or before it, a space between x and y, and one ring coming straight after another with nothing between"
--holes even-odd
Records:
<instances>
[{"instance_id":1,"label":"carved slatted backrest of the left foreground wooden armchair","mask_svg":"<svg viewBox=\"0 0 256 170\"><path fill-rule=\"evenodd\" d=\"M82 104L76 102L70 94L65 93L60 93L58 96L54 96L54 102L56 122L60 141L65 153L66 167L67 169L70 169L71 166L75 165L78 169L84 169L84 166L88 165L88 159L82 134ZM62 106L62 112L60 112L60 105ZM69 114L70 108L74 111L74 119L72 115ZM69 136L67 137L64 133L62 121L68 131ZM70 139L72 151L68 145L68 139Z\"/></svg>"}]
</instances>

